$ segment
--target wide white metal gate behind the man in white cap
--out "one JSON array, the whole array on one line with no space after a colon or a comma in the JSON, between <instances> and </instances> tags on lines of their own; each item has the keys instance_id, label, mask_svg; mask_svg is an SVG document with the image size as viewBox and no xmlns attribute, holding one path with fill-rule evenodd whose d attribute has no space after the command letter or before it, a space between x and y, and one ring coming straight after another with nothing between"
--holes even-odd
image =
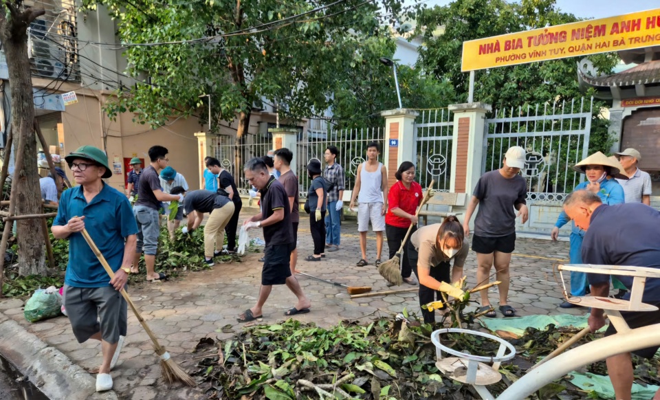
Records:
<instances>
[{"instance_id":1,"label":"wide white metal gate behind the man in white cap","mask_svg":"<svg viewBox=\"0 0 660 400\"><path fill-rule=\"evenodd\" d=\"M592 107L593 98L582 98L496 110L485 120L483 173L500 168L509 147L527 150L521 174L527 180L529 221L518 228L549 232L564 197L584 180L571 166L588 155Z\"/></svg>"}]
</instances>

